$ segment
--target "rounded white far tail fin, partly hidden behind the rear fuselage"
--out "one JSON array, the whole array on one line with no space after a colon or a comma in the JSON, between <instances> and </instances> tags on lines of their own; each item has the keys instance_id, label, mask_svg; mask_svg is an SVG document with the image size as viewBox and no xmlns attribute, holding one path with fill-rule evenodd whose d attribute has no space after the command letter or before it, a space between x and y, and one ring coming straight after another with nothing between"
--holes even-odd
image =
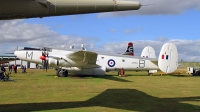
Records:
<instances>
[{"instance_id":1,"label":"rounded white far tail fin, partly hidden behind the rear fuselage","mask_svg":"<svg viewBox=\"0 0 200 112\"><path fill-rule=\"evenodd\" d=\"M144 57L144 58L156 58L155 50L152 47L147 46L142 50L141 57Z\"/></svg>"}]
</instances>

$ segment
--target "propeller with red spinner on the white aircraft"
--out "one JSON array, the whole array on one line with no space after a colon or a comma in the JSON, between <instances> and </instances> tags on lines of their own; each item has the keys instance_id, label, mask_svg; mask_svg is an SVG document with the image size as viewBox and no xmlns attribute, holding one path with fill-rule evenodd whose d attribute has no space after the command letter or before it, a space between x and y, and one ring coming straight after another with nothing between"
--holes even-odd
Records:
<instances>
[{"instance_id":1,"label":"propeller with red spinner on the white aircraft","mask_svg":"<svg viewBox=\"0 0 200 112\"><path fill-rule=\"evenodd\" d=\"M40 59L42 60L42 66L43 66L43 68L46 69L46 72L47 72L47 68L48 68L48 65L49 65L48 57L49 57L49 53L47 52L46 48L43 48L42 49L42 56L40 56Z\"/></svg>"}]
</instances>

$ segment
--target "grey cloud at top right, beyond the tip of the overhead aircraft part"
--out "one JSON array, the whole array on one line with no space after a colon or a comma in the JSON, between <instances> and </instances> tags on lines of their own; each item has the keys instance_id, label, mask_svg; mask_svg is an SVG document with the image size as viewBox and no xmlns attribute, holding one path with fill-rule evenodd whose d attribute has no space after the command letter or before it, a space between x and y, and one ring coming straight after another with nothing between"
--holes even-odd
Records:
<instances>
[{"instance_id":1,"label":"grey cloud at top right, beyond the tip of the overhead aircraft part","mask_svg":"<svg viewBox=\"0 0 200 112\"><path fill-rule=\"evenodd\" d=\"M131 1L131 0L130 0ZM121 11L121 12L108 12L100 13L97 17L115 17L115 16L128 16L128 15L177 15L186 10L200 10L199 0L136 0L142 6L139 10L135 11ZM152 5L148 5L152 4Z\"/></svg>"}]
</instances>

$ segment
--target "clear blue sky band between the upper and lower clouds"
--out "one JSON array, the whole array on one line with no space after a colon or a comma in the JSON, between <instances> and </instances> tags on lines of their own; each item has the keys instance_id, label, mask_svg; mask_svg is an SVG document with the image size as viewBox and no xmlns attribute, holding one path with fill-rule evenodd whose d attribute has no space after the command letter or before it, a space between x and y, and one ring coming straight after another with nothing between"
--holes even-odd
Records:
<instances>
[{"instance_id":1,"label":"clear blue sky band between the upper and lower clouds","mask_svg":"<svg viewBox=\"0 0 200 112\"><path fill-rule=\"evenodd\" d=\"M61 35L98 38L109 41L157 39L199 39L200 11L187 10L179 15L129 15L98 18L98 14L26 19L30 24L44 24ZM125 32L127 30L127 32Z\"/></svg>"}]
</instances>

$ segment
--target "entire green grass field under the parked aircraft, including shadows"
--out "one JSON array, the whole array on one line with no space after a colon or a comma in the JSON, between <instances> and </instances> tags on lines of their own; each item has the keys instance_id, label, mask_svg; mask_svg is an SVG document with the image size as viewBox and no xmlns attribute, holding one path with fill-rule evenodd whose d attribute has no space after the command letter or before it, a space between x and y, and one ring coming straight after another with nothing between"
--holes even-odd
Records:
<instances>
[{"instance_id":1,"label":"entire green grass field under the parked aircraft, including shadows","mask_svg":"<svg viewBox=\"0 0 200 112\"><path fill-rule=\"evenodd\" d=\"M72 112L199 112L200 77L187 74L126 77L73 76L55 78L55 71L27 70L0 82L0 111ZM183 71L185 73L185 71Z\"/></svg>"}]
</instances>

